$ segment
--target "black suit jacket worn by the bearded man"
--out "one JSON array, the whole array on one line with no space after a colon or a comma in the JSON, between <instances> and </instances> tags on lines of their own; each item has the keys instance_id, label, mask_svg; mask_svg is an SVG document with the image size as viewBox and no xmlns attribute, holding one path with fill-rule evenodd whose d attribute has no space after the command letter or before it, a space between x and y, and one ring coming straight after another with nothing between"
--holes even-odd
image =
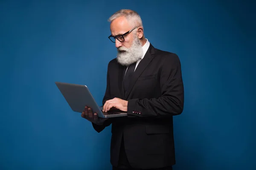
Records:
<instances>
[{"instance_id":1,"label":"black suit jacket worn by the bearded man","mask_svg":"<svg viewBox=\"0 0 256 170\"><path fill-rule=\"evenodd\" d=\"M183 111L183 80L178 56L151 44L137 66L131 86L124 93L126 67L116 59L108 64L107 88L103 99L128 101L128 116L110 118L104 125L93 124L101 132L112 123L111 164L117 166L122 135L129 163L134 168L157 168L175 164L174 115Z\"/></svg>"}]
</instances>

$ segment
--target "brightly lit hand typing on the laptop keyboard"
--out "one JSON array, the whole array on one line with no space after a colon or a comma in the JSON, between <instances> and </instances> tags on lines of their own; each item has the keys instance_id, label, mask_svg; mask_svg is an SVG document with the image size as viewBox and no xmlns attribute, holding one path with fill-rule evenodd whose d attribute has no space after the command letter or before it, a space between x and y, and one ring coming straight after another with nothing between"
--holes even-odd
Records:
<instances>
[{"instance_id":1,"label":"brightly lit hand typing on the laptop keyboard","mask_svg":"<svg viewBox=\"0 0 256 170\"><path fill-rule=\"evenodd\" d=\"M117 108L121 111L127 111L127 105L128 105L128 101L126 100L122 100L119 98L113 98L111 100L107 100L103 106L103 110L104 112L109 111L111 108Z\"/></svg>"}]
</instances>

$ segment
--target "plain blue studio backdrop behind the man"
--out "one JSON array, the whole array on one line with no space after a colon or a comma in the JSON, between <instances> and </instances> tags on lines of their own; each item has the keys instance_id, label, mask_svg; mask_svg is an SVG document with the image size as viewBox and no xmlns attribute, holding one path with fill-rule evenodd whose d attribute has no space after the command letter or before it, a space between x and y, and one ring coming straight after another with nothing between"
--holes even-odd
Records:
<instances>
[{"instance_id":1,"label":"plain blue studio backdrop behind the man","mask_svg":"<svg viewBox=\"0 0 256 170\"><path fill-rule=\"evenodd\" d=\"M256 169L255 3L238 0L1 0L0 169L111 169L111 126L93 130L54 82L87 85L102 103L116 55L107 20L121 8L180 57L174 170Z\"/></svg>"}]
</instances>

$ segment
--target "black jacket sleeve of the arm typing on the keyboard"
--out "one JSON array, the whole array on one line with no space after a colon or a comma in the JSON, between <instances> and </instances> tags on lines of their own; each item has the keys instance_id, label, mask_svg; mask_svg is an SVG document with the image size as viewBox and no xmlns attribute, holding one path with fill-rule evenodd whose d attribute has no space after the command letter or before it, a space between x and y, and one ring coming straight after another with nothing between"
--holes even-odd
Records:
<instances>
[{"instance_id":1,"label":"black jacket sleeve of the arm typing on the keyboard","mask_svg":"<svg viewBox=\"0 0 256 170\"><path fill-rule=\"evenodd\" d=\"M151 99L128 100L128 117L166 117L183 111L184 89L180 59L169 53L160 74L161 96Z\"/></svg>"}]
</instances>

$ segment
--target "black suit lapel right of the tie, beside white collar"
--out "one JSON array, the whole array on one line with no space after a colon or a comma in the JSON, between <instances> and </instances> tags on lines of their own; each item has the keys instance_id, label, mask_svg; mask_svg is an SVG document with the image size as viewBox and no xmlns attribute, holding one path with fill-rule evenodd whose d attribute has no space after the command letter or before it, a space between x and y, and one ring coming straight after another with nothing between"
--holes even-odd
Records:
<instances>
[{"instance_id":1,"label":"black suit lapel right of the tie, beside white collar","mask_svg":"<svg viewBox=\"0 0 256 170\"><path fill-rule=\"evenodd\" d=\"M131 84L128 88L127 93L125 94L125 99L128 98L129 94L131 93L132 88L134 87L134 84L136 83L137 79L140 77L140 74L145 70L145 68L148 66L148 64L151 62L151 60L154 57L154 47L150 44L148 51L146 52L143 59L138 64L136 70L134 71L134 74L131 79Z\"/></svg>"}]
</instances>

